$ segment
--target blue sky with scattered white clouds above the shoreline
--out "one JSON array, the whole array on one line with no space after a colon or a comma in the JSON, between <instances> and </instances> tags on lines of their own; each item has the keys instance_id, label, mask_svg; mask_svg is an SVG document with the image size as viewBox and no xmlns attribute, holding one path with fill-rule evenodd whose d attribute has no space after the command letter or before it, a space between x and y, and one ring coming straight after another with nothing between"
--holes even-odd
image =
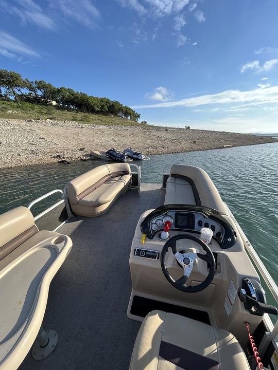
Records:
<instances>
[{"instance_id":1,"label":"blue sky with scattered white clouds above the shoreline","mask_svg":"<svg viewBox=\"0 0 278 370\"><path fill-rule=\"evenodd\" d=\"M0 0L0 67L151 124L278 131L277 0Z\"/></svg>"}]
</instances>

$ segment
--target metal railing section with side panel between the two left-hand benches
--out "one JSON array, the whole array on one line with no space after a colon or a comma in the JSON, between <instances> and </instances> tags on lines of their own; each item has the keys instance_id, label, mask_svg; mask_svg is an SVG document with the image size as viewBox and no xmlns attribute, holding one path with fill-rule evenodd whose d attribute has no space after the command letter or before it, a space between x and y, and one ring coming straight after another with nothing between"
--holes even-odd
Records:
<instances>
[{"instance_id":1,"label":"metal railing section with side panel between the two left-hand benches","mask_svg":"<svg viewBox=\"0 0 278 370\"><path fill-rule=\"evenodd\" d=\"M34 216L34 221L39 230L57 231L68 219L73 217L68 199L60 189L52 190L39 198L34 199L30 202L27 208L31 210L34 205L57 193L60 194L62 199Z\"/></svg>"}]
</instances>

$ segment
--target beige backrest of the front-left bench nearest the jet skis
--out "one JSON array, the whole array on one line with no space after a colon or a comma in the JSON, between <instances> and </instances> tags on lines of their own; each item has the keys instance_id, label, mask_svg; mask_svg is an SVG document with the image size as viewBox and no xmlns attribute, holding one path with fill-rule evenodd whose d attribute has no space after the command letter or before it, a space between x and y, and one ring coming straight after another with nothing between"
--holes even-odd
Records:
<instances>
[{"instance_id":1,"label":"beige backrest of the front-left bench nearest the jet skis","mask_svg":"<svg viewBox=\"0 0 278 370\"><path fill-rule=\"evenodd\" d=\"M97 189L102 183L112 177L130 173L128 163L103 164L91 171L67 182L66 191L71 204L78 204L79 200Z\"/></svg>"}]
</instances>

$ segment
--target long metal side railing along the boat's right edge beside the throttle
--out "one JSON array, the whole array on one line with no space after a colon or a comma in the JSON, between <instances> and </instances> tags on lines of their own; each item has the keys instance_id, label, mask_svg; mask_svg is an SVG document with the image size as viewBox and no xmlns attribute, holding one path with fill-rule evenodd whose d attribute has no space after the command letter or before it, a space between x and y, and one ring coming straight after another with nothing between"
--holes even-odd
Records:
<instances>
[{"instance_id":1,"label":"long metal side railing along the boat's right edge beside the throttle","mask_svg":"<svg viewBox=\"0 0 278 370\"><path fill-rule=\"evenodd\" d=\"M248 237L245 235L245 232L241 229L240 225L238 224L236 218L234 217L232 211L230 208L225 204L227 207L229 214L234 221L238 232L242 238L242 241L244 242L245 249L247 250L249 256L251 257L254 265L256 266L258 272L262 275L262 278L264 279L268 289L270 290L270 293L272 294L275 302L278 304L278 287L274 280L272 279L270 273L268 272L267 268L265 267L263 261L260 259L259 255L253 248L252 244L249 242ZM264 315L265 323L267 325L268 330L271 332L273 338L278 339L278 320L276 321L275 325L273 325L270 317L268 314Z\"/></svg>"}]
</instances>

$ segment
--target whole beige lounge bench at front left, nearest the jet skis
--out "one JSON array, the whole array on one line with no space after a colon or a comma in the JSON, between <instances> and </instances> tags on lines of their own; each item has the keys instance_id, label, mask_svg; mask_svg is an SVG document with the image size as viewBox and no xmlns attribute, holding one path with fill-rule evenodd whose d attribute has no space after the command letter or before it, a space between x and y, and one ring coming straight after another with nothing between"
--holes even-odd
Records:
<instances>
[{"instance_id":1,"label":"whole beige lounge bench at front left, nearest the jet skis","mask_svg":"<svg viewBox=\"0 0 278 370\"><path fill-rule=\"evenodd\" d=\"M131 170L128 163L103 164L66 184L72 210L80 216L99 216L128 191Z\"/></svg>"}]
</instances>

